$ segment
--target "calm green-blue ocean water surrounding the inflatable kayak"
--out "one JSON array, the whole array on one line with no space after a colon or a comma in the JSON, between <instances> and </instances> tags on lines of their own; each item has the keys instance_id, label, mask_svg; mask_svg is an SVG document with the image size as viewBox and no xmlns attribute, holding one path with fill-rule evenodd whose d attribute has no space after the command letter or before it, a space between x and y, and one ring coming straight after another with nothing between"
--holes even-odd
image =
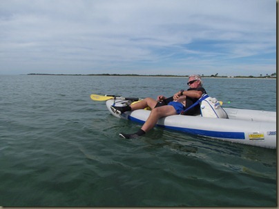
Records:
<instances>
[{"instance_id":1,"label":"calm green-blue ocean water surrounding the inflatable kayak","mask_svg":"<svg viewBox=\"0 0 279 209\"><path fill-rule=\"evenodd\" d=\"M0 206L276 206L276 150L155 128L90 94L171 96L186 78L0 76ZM276 111L275 79L204 78L224 107ZM230 104L227 102L230 101Z\"/></svg>"}]
</instances>

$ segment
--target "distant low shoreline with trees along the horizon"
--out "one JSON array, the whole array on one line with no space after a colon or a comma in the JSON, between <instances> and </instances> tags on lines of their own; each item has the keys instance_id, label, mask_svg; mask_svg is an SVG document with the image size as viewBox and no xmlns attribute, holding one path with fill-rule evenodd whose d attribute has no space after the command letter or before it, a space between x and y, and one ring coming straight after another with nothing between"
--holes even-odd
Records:
<instances>
[{"instance_id":1,"label":"distant low shoreline with trees along the horizon","mask_svg":"<svg viewBox=\"0 0 279 209\"><path fill-rule=\"evenodd\" d=\"M133 76L133 77L189 77L175 75L139 75L139 74L27 74L28 76ZM276 78L271 76L202 76L202 78Z\"/></svg>"}]
</instances>

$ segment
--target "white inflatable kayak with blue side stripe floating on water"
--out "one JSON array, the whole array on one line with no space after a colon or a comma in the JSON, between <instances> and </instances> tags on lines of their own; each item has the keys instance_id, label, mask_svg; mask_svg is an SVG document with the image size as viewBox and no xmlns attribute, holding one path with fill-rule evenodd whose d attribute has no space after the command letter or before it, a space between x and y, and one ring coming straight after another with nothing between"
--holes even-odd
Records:
<instances>
[{"instance_id":1,"label":"white inflatable kayak with blue side stripe floating on water","mask_svg":"<svg viewBox=\"0 0 279 209\"><path fill-rule=\"evenodd\" d=\"M113 104L126 106L131 102L133 101L110 99L106 101L106 107L117 118L144 123L151 111L139 109L117 115L110 109ZM218 140L276 148L276 112L223 109L227 112L229 119L204 118L201 115L171 115L158 120L157 126Z\"/></svg>"}]
</instances>

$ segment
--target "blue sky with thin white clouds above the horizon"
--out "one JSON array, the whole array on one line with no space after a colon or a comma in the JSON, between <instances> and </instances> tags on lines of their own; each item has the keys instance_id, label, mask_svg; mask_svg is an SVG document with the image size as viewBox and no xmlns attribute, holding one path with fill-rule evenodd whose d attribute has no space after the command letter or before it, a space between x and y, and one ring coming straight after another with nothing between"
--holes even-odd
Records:
<instances>
[{"instance_id":1,"label":"blue sky with thin white clouds above the horizon","mask_svg":"<svg viewBox=\"0 0 279 209\"><path fill-rule=\"evenodd\" d=\"M276 0L0 0L0 74L276 73Z\"/></svg>"}]
</instances>

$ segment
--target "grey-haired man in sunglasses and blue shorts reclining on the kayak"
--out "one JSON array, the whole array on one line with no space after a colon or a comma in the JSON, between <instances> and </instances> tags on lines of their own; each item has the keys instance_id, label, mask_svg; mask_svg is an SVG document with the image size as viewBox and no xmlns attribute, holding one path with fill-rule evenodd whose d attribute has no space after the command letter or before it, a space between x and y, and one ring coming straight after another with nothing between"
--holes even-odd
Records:
<instances>
[{"instance_id":1,"label":"grey-haired man in sunglasses and blue shorts reclining on the kayak","mask_svg":"<svg viewBox=\"0 0 279 209\"><path fill-rule=\"evenodd\" d=\"M112 111L117 114L122 114L125 111L144 109L146 107L151 107L152 109L146 122L139 131L132 134L119 133L119 136L130 139L144 135L147 131L153 129L160 118L182 113L185 109L201 98L202 94L206 94L205 89L202 87L202 78L199 75L189 76L187 85L189 85L189 89L186 91L178 91L170 98L160 95L157 96L157 100L154 100L153 98L145 98L144 100L131 104L131 106L127 107L111 106L110 108ZM199 113L200 105L196 105L192 109L189 109L189 111L186 111L185 115L195 115Z\"/></svg>"}]
</instances>

